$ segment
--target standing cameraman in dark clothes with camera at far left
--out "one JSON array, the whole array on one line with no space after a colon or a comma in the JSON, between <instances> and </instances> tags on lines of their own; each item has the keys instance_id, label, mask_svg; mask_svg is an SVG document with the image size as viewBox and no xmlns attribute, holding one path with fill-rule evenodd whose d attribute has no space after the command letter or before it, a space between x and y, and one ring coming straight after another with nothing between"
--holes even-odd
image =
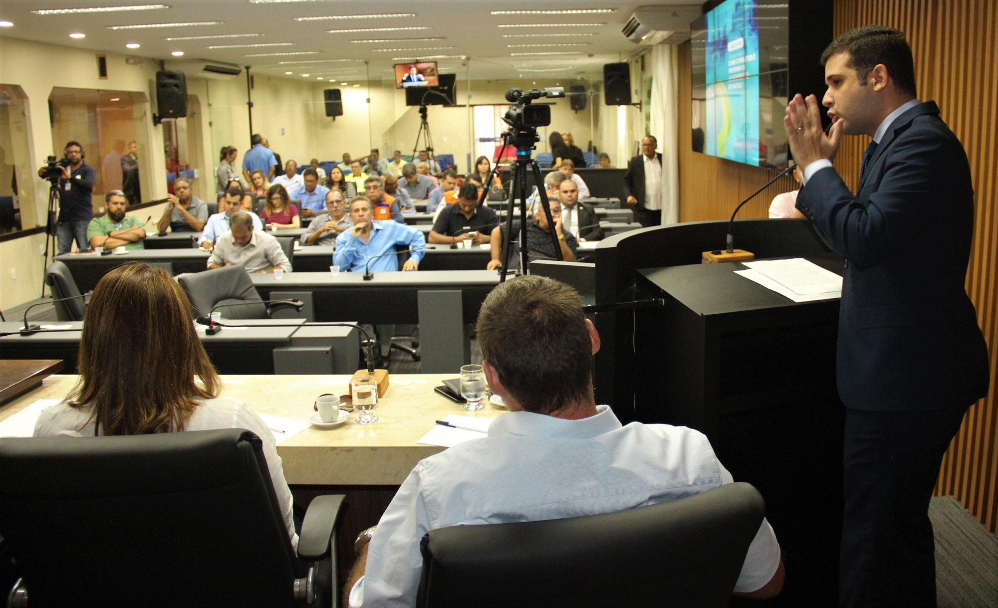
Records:
<instances>
[{"instance_id":1,"label":"standing cameraman in dark clothes with camera at far left","mask_svg":"<svg viewBox=\"0 0 998 608\"><path fill-rule=\"evenodd\" d=\"M94 191L94 181L97 171L83 161L83 147L79 142L66 144L65 154L58 161L55 156L49 156L48 163L38 169L38 176L48 179L59 189L59 253L69 253L76 238L76 247L80 251L90 249L87 238L87 226L94 218L94 206L91 193Z\"/></svg>"}]
</instances>

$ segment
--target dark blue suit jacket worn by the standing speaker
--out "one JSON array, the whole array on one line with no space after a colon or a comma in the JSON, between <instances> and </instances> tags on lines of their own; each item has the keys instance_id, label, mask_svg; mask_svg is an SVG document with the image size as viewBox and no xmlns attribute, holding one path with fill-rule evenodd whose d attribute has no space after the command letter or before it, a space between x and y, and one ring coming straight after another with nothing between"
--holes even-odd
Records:
<instances>
[{"instance_id":1,"label":"dark blue suit jacket worn by the standing speaker","mask_svg":"<svg viewBox=\"0 0 998 608\"><path fill-rule=\"evenodd\" d=\"M899 116L852 194L818 170L796 206L845 257L842 403L869 411L965 407L987 394L987 348L964 281L970 166L934 102Z\"/></svg>"}]
</instances>

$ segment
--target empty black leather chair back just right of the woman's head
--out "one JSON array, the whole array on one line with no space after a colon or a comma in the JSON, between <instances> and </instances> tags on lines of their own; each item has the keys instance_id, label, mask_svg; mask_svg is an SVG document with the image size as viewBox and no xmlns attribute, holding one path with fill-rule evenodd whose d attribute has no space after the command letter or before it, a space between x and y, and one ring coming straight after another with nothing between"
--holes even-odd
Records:
<instances>
[{"instance_id":1,"label":"empty black leather chair back just right of the woman's head","mask_svg":"<svg viewBox=\"0 0 998 608\"><path fill-rule=\"evenodd\" d=\"M251 306L220 309L227 319L265 319L266 305L259 297L252 279L243 266L225 266L203 272L182 274L177 281L188 294L191 306L199 317L207 317L219 304L259 302Z\"/></svg>"}]
</instances>

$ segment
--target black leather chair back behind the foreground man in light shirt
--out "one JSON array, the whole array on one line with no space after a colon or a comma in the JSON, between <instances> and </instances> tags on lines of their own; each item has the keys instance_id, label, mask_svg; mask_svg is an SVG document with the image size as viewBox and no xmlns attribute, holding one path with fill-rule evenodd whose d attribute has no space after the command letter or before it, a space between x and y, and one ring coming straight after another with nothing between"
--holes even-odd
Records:
<instances>
[{"instance_id":1,"label":"black leather chair back behind the foreground man in light shirt","mask_svg":"<svg viewBox=\"0 0 998 608\"><path fill-rule=\"evenodd\" d=\"M728 606L764 515L749 483L640 508L423 536L420 608Z\"/></svg>"}]
</instances>

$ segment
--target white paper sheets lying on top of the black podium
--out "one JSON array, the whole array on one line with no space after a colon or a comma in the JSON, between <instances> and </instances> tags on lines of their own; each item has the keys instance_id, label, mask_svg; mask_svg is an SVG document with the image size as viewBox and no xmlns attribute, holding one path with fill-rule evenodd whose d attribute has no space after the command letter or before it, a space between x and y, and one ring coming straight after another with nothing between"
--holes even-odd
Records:
<instances>
[{"instance_id":1,"label":"white paper sheets lying on top of the black podium","mask_svg":"<svg viewBox=\"0 0 998 608\"><path fill-rule=\"evenodd\" d=\"M812 302L842 295L842 277L803 258L745 262L735 273L793 300Z\"/></svg>"}]
</instances>

